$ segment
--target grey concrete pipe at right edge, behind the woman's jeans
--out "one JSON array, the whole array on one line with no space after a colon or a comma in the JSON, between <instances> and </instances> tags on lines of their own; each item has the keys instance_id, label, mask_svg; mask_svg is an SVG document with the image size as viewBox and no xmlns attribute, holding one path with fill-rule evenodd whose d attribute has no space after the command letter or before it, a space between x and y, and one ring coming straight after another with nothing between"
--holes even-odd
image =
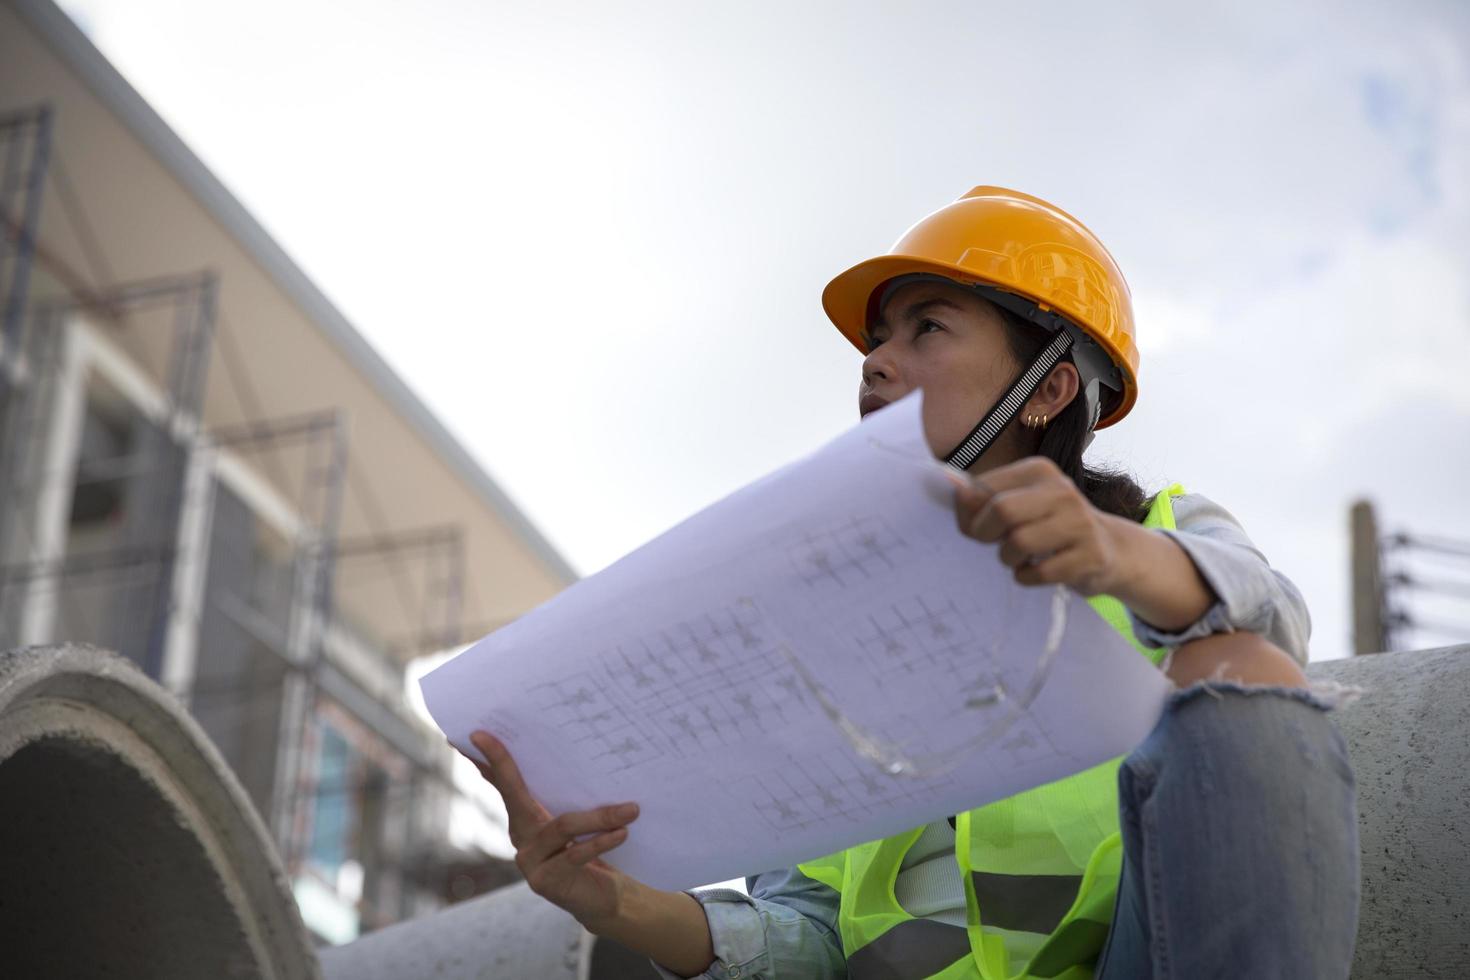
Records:
<instances>
[{"instance_id":1,"label":"grey concrete pipe at right edge, behind the woman's jeans","mask_svg":"<svg viewBox=\"0 0 1470 980\"><path fill-rule=\"evenodd\" d=\"M1338 711L1363 852L1352 976L1470 977L1470 645L1307 673L1364 689Z\"/></svg>"}]
</instances>

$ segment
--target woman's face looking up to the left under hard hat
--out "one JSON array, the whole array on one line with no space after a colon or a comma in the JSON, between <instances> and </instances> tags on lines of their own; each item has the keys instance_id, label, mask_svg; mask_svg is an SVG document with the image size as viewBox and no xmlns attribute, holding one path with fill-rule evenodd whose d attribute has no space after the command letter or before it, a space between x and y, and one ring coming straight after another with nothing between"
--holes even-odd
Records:
<instances>
[{"instance_id":1,"label":"woman's face looking up to the left under hard hat","mask_svg":"<svg viewBox=\"0 0 1470 980\"><path fill-rule=\"evenodd\" d=\"M923 388L925 438L938 457L970 433L1020 370L995 307L945 282L894 289L869 325L869 351L857 389L858 413L866 416ZM970 469L1020 458L1014 444L1011 432L1003 433Z\"/></svg>"}]
</instances>

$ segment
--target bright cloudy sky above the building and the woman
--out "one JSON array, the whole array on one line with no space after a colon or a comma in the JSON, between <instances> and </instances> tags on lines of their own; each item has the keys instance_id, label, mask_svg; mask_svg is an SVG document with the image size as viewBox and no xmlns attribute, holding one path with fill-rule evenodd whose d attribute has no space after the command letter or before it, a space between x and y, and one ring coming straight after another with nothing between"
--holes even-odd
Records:
<instances>
[{"instance_id":1,"label":"bright cloudy sky above the building and the woman","mask_svg":"<svg viewBox=\"0 0 1470 980\"><path fill-rule=\"evenodd\" d=\"M1352 500L1470 541L1463 3L65 7L584 574L853 425L822 287L978 184L1114 253L1094 461L1232 510L1314 658Z\"/></svg>"}]
</instances>

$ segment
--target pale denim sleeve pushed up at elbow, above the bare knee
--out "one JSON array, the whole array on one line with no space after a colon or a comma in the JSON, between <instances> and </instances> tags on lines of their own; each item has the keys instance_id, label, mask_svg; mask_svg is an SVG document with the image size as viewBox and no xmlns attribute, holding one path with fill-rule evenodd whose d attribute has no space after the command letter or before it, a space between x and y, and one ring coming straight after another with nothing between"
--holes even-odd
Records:
<instances>
[{"instance_id":1,"label":"pale denim sleeve pushed up at elbow, above the bare knee","mask_svg":"<svg viewBox=\"0 0 1470 980\"><path fill-rule=\"evenodd\" d=\"M1311 616L1301 591L1266 560L1230 513L1201 494L1176 497L1169 535L1214 591L1217 601L1177 632L1164 632L1133 616L1133 633L1148 646L1179 646L1213 633L1248 630L1307 663Z\"/></svg>"}]
</instances>

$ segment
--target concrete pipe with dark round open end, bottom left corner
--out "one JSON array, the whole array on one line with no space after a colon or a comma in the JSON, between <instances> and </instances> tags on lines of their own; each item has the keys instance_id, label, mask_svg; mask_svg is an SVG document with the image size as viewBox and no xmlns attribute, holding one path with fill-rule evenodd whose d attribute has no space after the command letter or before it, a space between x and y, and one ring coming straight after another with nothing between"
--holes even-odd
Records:
<instances>
[{"instance_id":1,"label":"concrete pipe with dark round open end, bottom left corner","mask_svg":"<svg viewBox=\"0 0 1470 980\"><path fill-rule=\"evenodd\" d=\"M244 790L119 657L0 654L0 824L6 977L320 976Z\"/></svg>"}]
</instances>

